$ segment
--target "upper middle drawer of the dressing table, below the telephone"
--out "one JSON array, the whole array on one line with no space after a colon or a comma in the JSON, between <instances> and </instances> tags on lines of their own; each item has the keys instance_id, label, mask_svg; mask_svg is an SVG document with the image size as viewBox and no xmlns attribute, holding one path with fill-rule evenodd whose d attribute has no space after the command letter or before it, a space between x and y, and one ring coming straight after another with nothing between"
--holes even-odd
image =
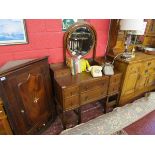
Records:
<instances>
[{"instance_id":1,"label":"upper middle drawer of the dressing table, below the telephone","mask_svg":"<svg viewBox=\"0 0 155 155\"><path fill-rule=\"evenodd\" d=\"M80 86L80 91L85 92L89 90L94 90L96 88L106 89L107 87L108 87L108 78L105 78L103 80L82 83Z\"/></svg>"}]
</instances>

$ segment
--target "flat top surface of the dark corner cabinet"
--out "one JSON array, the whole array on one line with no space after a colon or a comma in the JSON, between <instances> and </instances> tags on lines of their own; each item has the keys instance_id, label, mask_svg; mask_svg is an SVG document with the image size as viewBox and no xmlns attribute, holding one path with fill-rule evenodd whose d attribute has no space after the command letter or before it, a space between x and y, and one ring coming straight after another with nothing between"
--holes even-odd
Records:
<instances>
[{"instance_id":1,"label":"flat top surface of the dark corner cabinet","mask_svg":"<svg viewBox=\"0 0 155 155\"><path fill-rule=\"evenodd\" d=\"M16 70L18 68L24 67L26 65L30 65L32 63L47 59L48 57L38 58L38 59L23 59L23 60L15 60L9 61L0 67L0 76L9 71Z\"/></svg>"}]
</instances>

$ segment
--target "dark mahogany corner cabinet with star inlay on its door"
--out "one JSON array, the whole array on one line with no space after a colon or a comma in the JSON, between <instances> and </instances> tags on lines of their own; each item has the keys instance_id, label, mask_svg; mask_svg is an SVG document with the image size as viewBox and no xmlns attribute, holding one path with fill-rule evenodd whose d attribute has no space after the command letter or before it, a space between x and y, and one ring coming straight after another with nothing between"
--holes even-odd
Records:
<instances>
[{"instance_id":1,"label":"dark mahogany corner cabinet with star inlay on its door","mask_svg":"<svg viewBox=\"0 0 155 155\"><path fill-rule=\"evenodd\" d=\"M0 89L14 134L36 134L53 119L47 57L17 60L2 66Z\"/></svg>"}]
</instances>

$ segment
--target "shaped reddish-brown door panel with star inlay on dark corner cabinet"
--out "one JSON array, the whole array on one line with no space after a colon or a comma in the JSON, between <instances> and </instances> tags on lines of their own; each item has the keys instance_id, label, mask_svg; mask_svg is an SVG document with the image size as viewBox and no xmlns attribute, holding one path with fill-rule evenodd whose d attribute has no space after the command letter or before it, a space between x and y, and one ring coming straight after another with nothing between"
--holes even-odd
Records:
<instances>
[{"instance_id":1,"label":"shaped reddish-brown door panel with star inlay on dark corner cabinet","mask_svg":"<svg viewBox=\"0 0 155 155\"><path fill-rule=\"evenodd\" d=\"M43 77L41 74L29 74L26 81L18 84L18 89L29 122L39 121L39 116L48 109L47 104L42 104L47 103Z\"/></svg>"}]
</instances>

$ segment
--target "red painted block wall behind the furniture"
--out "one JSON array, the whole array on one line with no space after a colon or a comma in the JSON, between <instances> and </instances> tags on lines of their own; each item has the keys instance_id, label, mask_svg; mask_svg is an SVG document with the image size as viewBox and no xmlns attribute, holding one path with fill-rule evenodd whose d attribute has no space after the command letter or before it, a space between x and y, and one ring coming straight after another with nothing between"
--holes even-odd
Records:
<instances>
[{"instance_id":1,"label":"red painted block wall behind the furniture","mask_svg":"<svg viewBox=\"0 0 155 155\"><path fill-rule=\"evenodd\" d=\"M97 55L103 56L107 44L109 19L89 19L97 31ZM0 65L10 60L49 56L49 63L63 61L61 19L27 19L28 44L0 46Z\"/></svg>"}]
</instances>

